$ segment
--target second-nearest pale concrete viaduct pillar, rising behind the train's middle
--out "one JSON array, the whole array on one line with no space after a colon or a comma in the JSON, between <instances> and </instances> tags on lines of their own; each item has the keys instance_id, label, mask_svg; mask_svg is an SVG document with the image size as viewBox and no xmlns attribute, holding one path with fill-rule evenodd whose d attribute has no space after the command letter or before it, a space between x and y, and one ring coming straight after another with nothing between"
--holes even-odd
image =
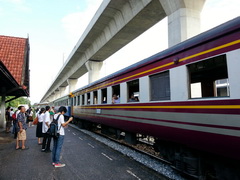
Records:
<instances>
[{"instance_id":1,"label":"second-nearest pale concrete viaduct pillar, rising behind the train's middle","mask_svg":"<svg viewBox=\"0 0 240 180\"><path fill-rule=\"evenodd\" d=\"M100 70L102 68L103 62L98 61L87 61L85 63L88 70L88 83L92 83L99 79Z\"/></svg>"}]
</instances>

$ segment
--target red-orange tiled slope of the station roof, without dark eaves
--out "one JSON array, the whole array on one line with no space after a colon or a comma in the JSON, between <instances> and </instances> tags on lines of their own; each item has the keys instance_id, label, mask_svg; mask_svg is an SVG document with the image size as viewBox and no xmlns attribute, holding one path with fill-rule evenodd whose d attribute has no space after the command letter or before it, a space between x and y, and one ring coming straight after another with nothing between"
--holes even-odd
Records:
<instances>
[{"instance_id":1,"label":"red-orange tiled slope of the station roof, without dark eaves","mask_svg":"<svg viewBox=\"0 0 240 180\"><path fill-rule=\"evenodd\" d=\"M0 36L0 60L19 85L22 85L27 38Z\"/></svg>"}]
</instances>

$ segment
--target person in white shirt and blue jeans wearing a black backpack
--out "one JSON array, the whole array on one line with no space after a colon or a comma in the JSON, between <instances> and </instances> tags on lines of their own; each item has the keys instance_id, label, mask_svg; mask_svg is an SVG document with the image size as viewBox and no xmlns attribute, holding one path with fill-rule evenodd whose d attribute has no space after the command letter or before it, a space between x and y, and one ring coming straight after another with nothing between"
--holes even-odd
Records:
<instances>
[{"instance_id":1,"label":"person in white shirt and blue jeans wearing a black backpack","mask_svg":"<svg viewBox=\"0 0 240 180\"><path fill-rule=\"evenodd\" d=\"M70 117L67 122L64 122L63 114L65 114L66 112L67 112L67 108L64 106L61 106L58 109L58 113L54 115L54 119L57 120L58 118L57 122L58 122L58 131L59 131L59 137L53 138L54 143L53 143L53 150L52 150L52 165L56 168L65 166L65 164L60 163L60 154L61 154L64 135L65 135L64 127L66 127L73 120L73 117Z\"/></svg>"}]
</instances>

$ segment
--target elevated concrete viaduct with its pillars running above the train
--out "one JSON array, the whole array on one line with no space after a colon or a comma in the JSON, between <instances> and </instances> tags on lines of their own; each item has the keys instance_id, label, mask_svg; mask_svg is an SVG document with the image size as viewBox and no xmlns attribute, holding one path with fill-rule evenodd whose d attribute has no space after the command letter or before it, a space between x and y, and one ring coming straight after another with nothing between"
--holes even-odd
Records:
<instances>
[{"instance_id":1,"label":"elevated concrete viaduct with its pillars running above the train","mask_svg":"<svg viewBox=\"0 0 240 180\"><path fill-rule=\"evenodd\" d=\"M41 102L63 96L67 86L70 92L75 90L77 79L86 72L89 83L97 80L105 59L166 16L169 46L198 34L204 2L104 0Z\"/></svg>"}]
</instances>

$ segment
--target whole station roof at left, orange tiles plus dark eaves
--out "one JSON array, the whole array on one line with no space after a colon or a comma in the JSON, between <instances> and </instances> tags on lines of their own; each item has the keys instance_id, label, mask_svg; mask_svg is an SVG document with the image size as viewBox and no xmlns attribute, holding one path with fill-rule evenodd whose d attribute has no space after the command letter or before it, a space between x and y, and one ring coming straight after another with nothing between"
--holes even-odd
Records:
<instances>
[{"instance_id":1,"label":"whole station roof at left, orange tiles plus dark eaves","mask_svg":"<svg viewBox=\"0 0 240 180\"><path fill-rule=\"evenodd\" d=\"M29 96L29 40L0 36L0 96Z\"/></svg>"}]
</instances>

